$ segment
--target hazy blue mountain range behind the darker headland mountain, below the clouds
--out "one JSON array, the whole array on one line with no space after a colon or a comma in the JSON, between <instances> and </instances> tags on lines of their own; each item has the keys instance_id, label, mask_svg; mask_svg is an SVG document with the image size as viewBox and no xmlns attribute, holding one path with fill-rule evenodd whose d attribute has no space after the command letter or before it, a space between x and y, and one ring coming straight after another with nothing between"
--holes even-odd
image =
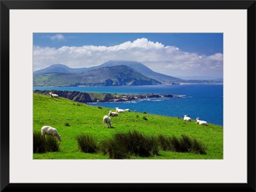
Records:
<instances>
[{"instance_id":1,"label":"hazy blue mountain range behind the darker headland mountain, below the clouds","mask_svg":"<svg viewBox=\"0 0 256 192\"><path fill-rule=\"evenodd\" d=\"M38 70L33 73L34 76L36 75L43 75L46 73L83 73L85 71L90 71L94 69L99 69L102 67L109 67L109 66L120 66L125 65L129 66L133 70L145 75L146 77L156 79L159 82L176 82L182 81L181 78L176 78L168 75L163 75L161 73L157 73L155 71L150 70L147 66L142 63L135 62L135 61L108 61L106 63L100 64L99 66L93 66L90 68L68 68L63 64L52 64L45 68L44 70Z\"/></svg>"}]
</instances>

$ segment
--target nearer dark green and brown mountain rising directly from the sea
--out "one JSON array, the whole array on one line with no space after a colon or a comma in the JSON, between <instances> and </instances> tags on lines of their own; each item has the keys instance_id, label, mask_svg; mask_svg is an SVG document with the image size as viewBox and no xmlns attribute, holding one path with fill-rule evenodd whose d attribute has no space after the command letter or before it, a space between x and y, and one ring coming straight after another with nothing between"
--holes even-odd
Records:
<instances>
[{"instance_id":1,"label":"nearer dark green and brown mountain rising directly from the sea","mask_svg":"<svg viewBox=\"0 0 256 192\"><path fill-rule=\"evenodd\" d=\"M118 86L157 85L161 82L148 78L124 65L96 68L83 73L47 73L34 75L36 86Z\"/></svg>"}]
</instances>

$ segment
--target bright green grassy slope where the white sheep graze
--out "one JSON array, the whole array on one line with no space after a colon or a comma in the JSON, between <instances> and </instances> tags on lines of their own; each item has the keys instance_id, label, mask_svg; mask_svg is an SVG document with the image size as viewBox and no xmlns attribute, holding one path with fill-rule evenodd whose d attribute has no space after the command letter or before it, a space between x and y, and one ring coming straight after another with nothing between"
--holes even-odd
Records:
<instances>
[{"instance_id":1,"label":"bright green grassy slope where the white sheep graze","mask_svg":"<svg viewBox=\"0 0 256 192\"><path fill-rule=\"evenodd\" d=\"M79 104L79 105L77 105ZM100 142L111 138L114 133L136 129L147 135L180 137L186 134L195 137L207 145L207 154L193 154L160 151L160 156L143 159L223 159L223 127L209 124L200 126L192 122L184 122L176 117L126 112L111 117L113 128L103 128L102 117L108 115L113 108L97 108L76 103L65 98L53 99L42 94L33 95L33 129L40 131L42 126L57 128L62 135L60 152L33 154L34 159L108 159L103 154L87 154L79 151L76 136L90 133ZM147 117L145 121L142 117ZM68 122L70 126L65 126ZM134 157L134 159L142 159Z\"/></svg>"}]
</instances>

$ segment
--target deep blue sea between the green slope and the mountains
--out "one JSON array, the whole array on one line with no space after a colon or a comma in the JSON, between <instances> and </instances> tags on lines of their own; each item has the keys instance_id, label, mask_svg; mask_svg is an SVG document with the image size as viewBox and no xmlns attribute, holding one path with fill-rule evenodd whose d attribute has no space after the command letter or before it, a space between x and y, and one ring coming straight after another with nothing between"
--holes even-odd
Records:
<instances>
[{"instance_id":1,"label":"deep blue sea between the green slope and the mountains","mask_svg":"<svg viewBox=\"0 0 256 192\"><path fill-rule=\"evenodd\" d=\"M33 87L34 90L60 90L103 93L133 94L173 94L179 98L150 98L146 100L118 103L88 103L101 107L129 108L131 111L200 120L223 126L223 84L182 84L182 85L143 85L118 87Z\"/></svg>"}]
</instances>

